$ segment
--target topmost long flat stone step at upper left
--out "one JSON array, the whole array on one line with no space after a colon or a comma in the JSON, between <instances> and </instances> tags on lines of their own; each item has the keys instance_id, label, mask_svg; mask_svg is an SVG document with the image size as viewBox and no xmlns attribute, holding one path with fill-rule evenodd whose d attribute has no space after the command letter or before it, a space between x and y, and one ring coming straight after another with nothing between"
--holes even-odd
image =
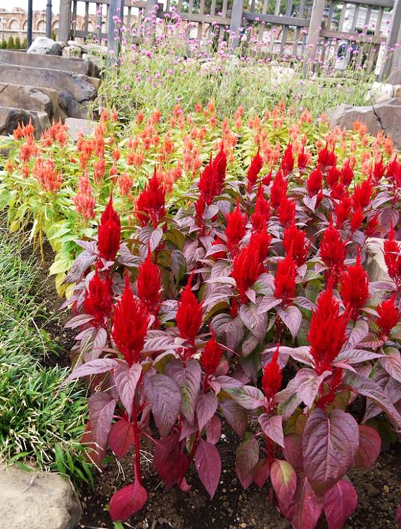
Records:
<instances>
[{"instance_id":1,"label":"topmost long flat stone step at upper left","mask_svg":"<svg viewBox=\"0 0 401 529\"><path fill-rule=\"evenodd\" d=\"M67 58L57 55L42 55L39 53L26 53L25 51L0 50L0 63L15 64L20 66L33 66L34 68L51 68L81 75L94 75L97 68L87 61L79 58ZM1 76L0 76L0 80Z\"/></svg>"}]
</instances>

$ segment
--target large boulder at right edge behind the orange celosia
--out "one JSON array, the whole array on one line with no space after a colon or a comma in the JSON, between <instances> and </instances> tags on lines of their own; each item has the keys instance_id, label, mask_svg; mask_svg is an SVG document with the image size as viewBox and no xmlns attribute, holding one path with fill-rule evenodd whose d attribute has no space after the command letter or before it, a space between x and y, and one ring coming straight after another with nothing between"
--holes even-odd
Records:
<instances>
[{"instance_id":1,"label":"large boulder at right edge behind the orange celosia","mask_svg":"<svg viewBox=\"0 0 401 529\"><path fill-rule=\"evenodd\" d=\"M373 106L339 105L328 111L331 127L351 130L355 121L363 122L369 134L383 131L401 148L401 98L388 99Z\"/></svg>"}]
</instances>

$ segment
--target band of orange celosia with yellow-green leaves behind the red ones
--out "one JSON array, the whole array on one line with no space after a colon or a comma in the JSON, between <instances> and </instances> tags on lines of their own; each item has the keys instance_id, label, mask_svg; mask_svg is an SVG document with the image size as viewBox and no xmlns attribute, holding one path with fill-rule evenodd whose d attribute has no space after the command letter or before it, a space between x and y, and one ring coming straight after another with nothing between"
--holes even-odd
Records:
<instances>
[{"instance_id":1,"label":"band of orange celosia with yellow-green leaves behind the red ones","mask_svg":"<svg viewBox=\"0 0 401 529\"><path fill-rule=\"evenodd\" d=\"M279 167L286 146L291 145L295 167L301 175L319 158L324 166L325 153L338 156L345 176L343 184L369 176L376 162L393 159L393 142L378 134L367 135L366 127L355 123L353 131L329 129L326 118L317 122L307 111L295 117L283 104L265 115L247 117L243 108L234 116L220 120L212 103L197 105L185 114L176 106L170 120L160 112L147 117L138 113L136 123L122 127L117 113L103 112L93 136L80 136L77 144L68 141L61 123L53 124L40 141L34 141L33 129L18 127L18 141L1 174L1 205L7 206L11 229L30 229L42 247L43 234L56 252L51 274L56 274L59 293L63 293L65 273L79 250L75 239L93 236L101 210L110 193L122 224L129 236L134 224L133 212L139 191L156 177L167 193L167 201L179 207L189 203L187 192L193 181L216 155L222 141L227 155L226 179L244 178L259 149L265 175ZM328 184L336 182L336 174ZM310 186L319 185L319 177ZM337 186L338 198L342 193ZM313 189L310 189L312 193ZM340 215L347 215L343 203ZM283 206L283 210L285 207ZM356 220L354 221L356 222Z\"/></svg>"}]
</instances>

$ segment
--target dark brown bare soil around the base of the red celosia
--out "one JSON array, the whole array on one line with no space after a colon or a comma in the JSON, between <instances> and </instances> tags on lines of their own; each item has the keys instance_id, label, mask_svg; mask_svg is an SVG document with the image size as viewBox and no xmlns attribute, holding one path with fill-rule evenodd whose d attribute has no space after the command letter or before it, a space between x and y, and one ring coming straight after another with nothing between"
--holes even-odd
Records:
<instances>
[{"instance_id":1,"label":"dark brown bare soil around the base of the red celosia","mask_svg":"<svg viewBox=\"0 0 401 529\"><path fill-rule=\"evenodd\" d=\"M60 355L49 357L46 364L70 365L70 349L74 333L63 329L70 319L68 312L59 312L63 300L58 298L54 278L49 277L53 262L50 246L45 246L45 263L41 265L37 282L38 302L51 321L45 329L60 345ZM38 265L39 266L39 265ZM222 457L222 477L213 499L200 483L193 467L188 481L191 492L174 488L166 491L152 469L151 454L142 454L144 483L148 501L141 511L132 516L127 527L135 529L289 529L291 524L279 513L269 498L269 485L262 490L252 485L244 491L235 473L238 438L225 431L219 442ZM94 473L95 489L77 484L84 514L75 529L113 529L105 506L113 492L132 481L132 461L126 457L122 465L108 464L102 473ZM345 529L396 529L395 511L401 503L401 445L393 445L383 452L376 464L365 471L355 469L349 473L358 494L358 505ZM322 521L319 528L326 528Z\"/></svg>"}]
</instances>

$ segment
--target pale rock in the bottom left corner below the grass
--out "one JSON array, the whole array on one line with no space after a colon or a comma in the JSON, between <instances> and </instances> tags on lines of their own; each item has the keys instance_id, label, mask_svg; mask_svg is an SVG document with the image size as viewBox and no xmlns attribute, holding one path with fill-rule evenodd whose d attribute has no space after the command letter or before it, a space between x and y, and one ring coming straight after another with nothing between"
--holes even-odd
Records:
<instances>
[{"instance_id":1,"label":"pale rock in the bottom left corner below the grass","mask_svg":"<svg viewBox=\"0 0 401 529\"><path fill-rule=\"evenodd\" d=\"M70 481L56 473L0 467L0 498L4 529L72 529L82 516Z\"/></svg>"}]
</instances>

